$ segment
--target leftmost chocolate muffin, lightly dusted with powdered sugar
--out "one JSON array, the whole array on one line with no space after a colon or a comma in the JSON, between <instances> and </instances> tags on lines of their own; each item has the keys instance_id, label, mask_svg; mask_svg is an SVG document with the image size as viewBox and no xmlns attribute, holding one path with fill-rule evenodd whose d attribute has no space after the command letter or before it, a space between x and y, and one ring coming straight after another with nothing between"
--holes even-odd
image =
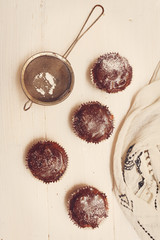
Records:
<instances>
[{"instance_id":1,"label":"leftmost chocolate muffin, lightly dusted with powdered sugar","mask_svg":"<svg viewBox=\"0 0 160 240\"><path fill-rule=\"evenodd\" d=\"M27 166L32 174L45 183L55 182L64 174L68 157L56 142L40 141L28 151Z\"/></svg>"}]
</instances>

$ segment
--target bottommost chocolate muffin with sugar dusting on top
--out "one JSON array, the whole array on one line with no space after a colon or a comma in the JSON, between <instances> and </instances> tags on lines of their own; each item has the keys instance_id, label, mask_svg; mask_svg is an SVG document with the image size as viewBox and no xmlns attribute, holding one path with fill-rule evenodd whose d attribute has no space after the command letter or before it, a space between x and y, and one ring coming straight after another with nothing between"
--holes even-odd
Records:
<instances>
[{"instance_id":1,"label":"bottommost chocolate muffin with sugar dusting on top","mask_svg":"<svg viewBox=\"0 0 160 240\"><path fill-rule=\"evenodd\" d=\"M108 216L106 195L90 186L73 192L68 208L71 220L81 228L96 228Z\"/></svg>"}]
</instances>

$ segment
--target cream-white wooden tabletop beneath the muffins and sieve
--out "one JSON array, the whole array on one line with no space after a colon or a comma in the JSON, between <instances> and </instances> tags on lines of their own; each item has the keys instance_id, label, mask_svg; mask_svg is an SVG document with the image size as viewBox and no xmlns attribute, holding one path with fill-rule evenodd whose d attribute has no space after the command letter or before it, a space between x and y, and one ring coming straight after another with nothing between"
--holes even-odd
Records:
<instances>
[{"instance_id":1,"label":"cream-white wooden tabletop beneath the muffins and sieve","mask_svg":"<svg viewBox=\"0 0 160 240\"><path fill-rule=\"evenodd\" d=\"M75 73L73 92L61 104L44 107L27 101L22 66L44 50L63 54L95 4L105 14L68 56ZM160 0L0 0L0 239L139 240L113 193L112 157L118 127L135 93L146 85L160 59ZM89 79L93 61L119 52L133 67L133 80L121 93L106 94ZM100 144L75 136L75 106L97 100L115 117L113 135ZM25 166L29 144L46 138L69 156L66 174L46 185ZM109 217L98 229L80 229L69 219L65 198L73 186L89 184L106 193Z\"/></svg>"}]
</instances>

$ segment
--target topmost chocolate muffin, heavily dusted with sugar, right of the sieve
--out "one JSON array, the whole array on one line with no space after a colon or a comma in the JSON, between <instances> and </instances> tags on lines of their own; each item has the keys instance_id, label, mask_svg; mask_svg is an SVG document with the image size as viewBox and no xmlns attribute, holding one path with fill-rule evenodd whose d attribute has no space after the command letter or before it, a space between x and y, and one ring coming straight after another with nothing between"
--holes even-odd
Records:
<instances>
[{"instance_id":1,"label":"topmost chocolate muffin, heavily dusted with sugar, right of the sieve","mask_svg":"<svg viewBox=\"0 0 160 240\"><path fill-rule=\"evenodd\" d=\"M100 56L91 69L91 79L96 87L107 93L124 90L132 79L132 67L118 53Z\"/></svg>"}]
</instances>

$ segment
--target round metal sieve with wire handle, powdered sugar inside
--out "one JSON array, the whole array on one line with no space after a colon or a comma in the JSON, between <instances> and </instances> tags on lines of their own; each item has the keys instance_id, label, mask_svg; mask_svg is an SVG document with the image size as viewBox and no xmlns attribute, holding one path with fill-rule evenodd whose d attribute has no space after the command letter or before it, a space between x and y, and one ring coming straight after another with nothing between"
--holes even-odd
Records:
<instances>
[{"instance_id":1,"label":"round metal sieve with wire handle, powdered sugar inside","mask_svg":"<svg viewBox=\"0 0 160 240\"><path fill-rule=\"evenodd\" d=\"M95 8L101 8L98 17L84 30ZM40 52L30 57L24 64L21 72L21 85L28 101L24 105L27 111L32 103L40 105L54 105L65 100L71 93L74 85L74 72L68 55L80 38L103 15L104 8L95 5L84 22L80 32L63 56L54 52Z\"/></svg>"}]
</instances>

